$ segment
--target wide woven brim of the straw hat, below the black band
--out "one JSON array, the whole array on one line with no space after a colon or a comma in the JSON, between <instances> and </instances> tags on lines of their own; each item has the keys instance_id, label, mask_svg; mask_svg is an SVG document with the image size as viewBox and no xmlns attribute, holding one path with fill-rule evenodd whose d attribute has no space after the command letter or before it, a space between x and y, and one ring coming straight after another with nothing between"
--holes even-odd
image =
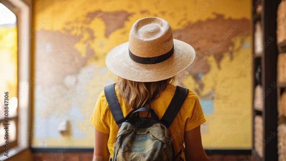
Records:
<instances>
[{"instance_id":1,"label":"wide woven brim of the straw hat, below the black band","mask_svg":"<svg viewBox=\"0 0 286 161\"><path fill-rule=\"evenodd\" d=\"M157 82L173 77L189 67L196 56L191 45L174 39L174 53L169 59L156 64L140 64L130 58L128 45L126 42L114 47L107 54L105 63L112 73L135 82Z\"/></svg>"}]
</instances>

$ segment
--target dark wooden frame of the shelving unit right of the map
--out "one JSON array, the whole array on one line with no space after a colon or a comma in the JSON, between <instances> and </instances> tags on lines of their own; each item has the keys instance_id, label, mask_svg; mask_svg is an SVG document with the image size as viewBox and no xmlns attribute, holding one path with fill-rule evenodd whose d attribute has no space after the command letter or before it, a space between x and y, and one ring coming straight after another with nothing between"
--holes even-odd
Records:
<instances>
[{"instance_id":1,"label":"dark wooden frame of the shelving unit right of the map","mask_svg":"<svg viewBox=\"0 0 286 161\"><path fill-rule=\"evenodd\" d=\"M257 6L258 1L253 0L252 6ZM279 1L270 1L264 0L261 4L261 10L259 12L253 11L253 21L252 25L255 26L257 21L261 21L261 32L262 32L262 44L267 43L269 37L272 37L276 40L276 28L277 28L277 7ZM253 39L252 42L255 44L255 27L253 27ZM283 51L283 47L281 51ZM285 50L286 51L286 50ZM255 54L254 46L253 53ZM253 89L260 84L264 89L263 92L267 89L273 89L271 84L277 81L277 58L278 58L278 46L276 41L273 43L268 43L268 46L263 49L262 56L256 57L253 61ZM261 66L261 77L260 82L256 81L256 70L257 67ZM279 84L277 87L285 87L285 84ZM253 90L254 91L254 90ZM254 117L257 115L262 116L263 120L263 140L271 135L271 132L277 131L277 93L272 92L263 100L263 110L253 109L253 124ZM255 98L253 94L253 98ZM254 129L253 129L254 131ZM253 148L254 148L254 135L253 135ZM252 151L256 154L256 161L267 161L267 160L278 160L277 154L277 136L271 138L271 142L263 146L263 157L258 156L255 151Z\"/></svg>"}]
</instances>

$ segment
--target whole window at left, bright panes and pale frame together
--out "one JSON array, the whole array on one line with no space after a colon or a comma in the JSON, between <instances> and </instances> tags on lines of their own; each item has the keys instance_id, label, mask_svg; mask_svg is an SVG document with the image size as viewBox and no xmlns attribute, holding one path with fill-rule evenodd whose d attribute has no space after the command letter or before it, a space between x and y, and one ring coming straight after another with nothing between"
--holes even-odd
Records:
<instances>
[{"instance_id":1,"label":"whole window at left, bright panes and pale frame together","mask_svg":"<svg viewBox=\"0 0 286 161\"><path fill-rule=\"evenodd\" d=\"M0 3L0 160L7 160L29 148L32 135L29 129L31 39L27 39L31 37L32 30L31 4L29 0L4 0ZM6 142L3 136L3 124L6 123L3 118L4 92L9 92L9 157L4 156L2 146L3 141Z\"/></svg>"}]
</instances>

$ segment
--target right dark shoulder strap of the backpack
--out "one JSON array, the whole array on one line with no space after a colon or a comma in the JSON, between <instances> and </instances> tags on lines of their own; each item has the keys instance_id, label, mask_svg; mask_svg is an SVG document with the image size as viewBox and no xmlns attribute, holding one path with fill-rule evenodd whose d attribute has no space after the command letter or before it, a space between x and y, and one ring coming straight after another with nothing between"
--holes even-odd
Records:
<instances>
[{"instance_id":1,"label":"right dark shoulder strap of the backpack","mask_svg":"<svg viewBox=\"0 0 286 161\"><path fill-rule=\"evenodd\" d=\"M173 120L175 119L176 115L178 114L181 106L183 105L189 90L186 88L182 88L180 86L177 86L175 94L164 113L161 122L169 128L169 126L172 124Z\"/></svg>"}]
</instances>

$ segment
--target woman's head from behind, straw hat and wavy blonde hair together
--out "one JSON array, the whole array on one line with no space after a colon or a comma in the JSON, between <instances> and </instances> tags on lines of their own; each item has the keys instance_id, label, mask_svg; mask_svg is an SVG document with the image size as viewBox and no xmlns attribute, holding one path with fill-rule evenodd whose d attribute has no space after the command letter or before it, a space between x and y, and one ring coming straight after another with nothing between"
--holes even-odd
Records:
<instances>
[{"instance_id":1,"label":"woman's head from behind, straw hat and wavy blonde hair together","mask_svg":"<svg viewBox=\"0 0 286 161\"><path fill-rule=\"evenodd\" d=\"M174 83L176 76L194 61L194 48L173 39L170 24L158 17L145 17L131 27L129 41L122 43L106 56L106 66L119 76L119 94L133 110L141 108ZM160 80L160 81L159 81Z\"/></svg>"}]
</instances>

